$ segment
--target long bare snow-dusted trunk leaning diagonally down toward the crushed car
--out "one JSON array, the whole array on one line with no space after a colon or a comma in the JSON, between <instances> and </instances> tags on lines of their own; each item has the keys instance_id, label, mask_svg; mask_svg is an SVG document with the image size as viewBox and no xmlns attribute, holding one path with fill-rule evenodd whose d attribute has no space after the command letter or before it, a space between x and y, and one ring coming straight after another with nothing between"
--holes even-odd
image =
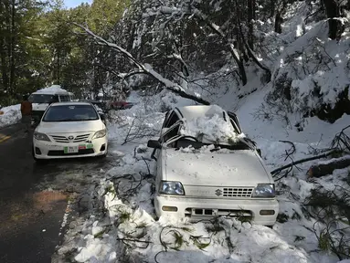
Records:
<instances>
[{"instance_id":1,"label":"long bare snow-dusted trunk leaning diagonally down toward the crushed car","mask_svg":"<svg viewBox=\"0 0 350 263\"><path fill-rule=\"evenodd\" d=\"M197 97L194 94L190 94L190 93L186 92L186 90L183 87L181 87L179 84L171 81L170 79L165 79L162 75L157 73L152 68L151 65L143 64L140 61L138 61L137 59L133 58L133 55L131 53L129 53L126 49L124 49L124 48L122 48L114 43L111 43L102 37L97 36L92 31L90 31L89 28L87 28L85 26L81 26L77 23L73 23L73 24L75 26L79 26L81 29L83 29L91 37L94 37L97 40L97 43L99 45L111 47L111 48L115 49L116 51L118 51L119 53L121 53L124 57L128 58L138 68L138 69L132 71L133 72L132 75L134 75L134 74L148 74L149 76L152 76L154 79L158 80L160 83L164 84L166 89L169 89L169 90L175 92L177 95L179 95L183 98L189 99L189 100L195 100L196 102L199 102L199 103L204 104L204 105L210 105L210 103L207 100L203 100L202 98ZM126 78L126 77L131 75L130 73L120 74L120 77Z\"/></svg>"}]
</instances>

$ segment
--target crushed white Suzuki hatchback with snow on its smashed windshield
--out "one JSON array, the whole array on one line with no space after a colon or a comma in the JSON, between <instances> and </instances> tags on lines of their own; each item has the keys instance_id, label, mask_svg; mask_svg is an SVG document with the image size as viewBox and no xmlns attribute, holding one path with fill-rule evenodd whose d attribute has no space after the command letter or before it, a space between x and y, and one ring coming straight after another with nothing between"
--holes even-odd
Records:
<instances>
[{"instance_id":1,"label":"crushed white Suzuki hatchback with snow on its smashed windshield","mask_svg":"<svg viewBox=\"0 0 350 263\"><path fill-rule=\"evenodd\" d=\"M170 110L159 140L148 147L157 161L157 216L190 221L234 216L264 226L276 222L274 181L234 113L216 105Z\"/></svg>"}]
</instances>

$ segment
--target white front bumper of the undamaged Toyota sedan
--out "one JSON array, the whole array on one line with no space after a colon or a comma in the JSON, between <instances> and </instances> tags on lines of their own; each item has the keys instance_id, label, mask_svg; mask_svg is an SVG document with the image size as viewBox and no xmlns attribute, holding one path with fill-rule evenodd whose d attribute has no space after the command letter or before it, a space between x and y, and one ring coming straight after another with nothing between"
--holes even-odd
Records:
<instances>
[{"instance_id":1,"label":"white front bumper of the undamaged Toyota sedan","mask_svg":"<svg viewBox=\"0 0 350 263\"><path fill-rule=\"evenodd\" d=\"M83 149L83 145L88 145L85 142L43 142L37 141L33 138L34 156L37 159L66 159L66 158L80 158L80 157L94 157L107 153L108 141L107 136L99 139L92 140L92 147L89 149ZM78 146L81 149L79 153L64 153L66 146Z\"/></svg>"}]
</instances>

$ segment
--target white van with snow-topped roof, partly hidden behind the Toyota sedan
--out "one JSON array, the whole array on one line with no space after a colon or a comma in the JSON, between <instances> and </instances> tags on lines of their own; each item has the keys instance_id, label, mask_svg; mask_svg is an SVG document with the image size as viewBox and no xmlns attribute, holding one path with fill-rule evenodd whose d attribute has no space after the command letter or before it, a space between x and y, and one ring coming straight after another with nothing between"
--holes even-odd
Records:
<instances>
[{"instance_id":1,"label":"white van with snow-topped roof, partly hidden behind the Toyota sedan","mask_svg":"<svg viewBox=\"0 0 350 263\"><path fill-rule=\"evenodd\" d=\"M39 89L33 92L28 99L33 106L32 123L40 121L44 111L47 110L48 105L51 103L72 101L74 98L73 96L73 93L65 89L60 89L59 86L51 86L47 89Z\"/></svg>"}]
</instances>

